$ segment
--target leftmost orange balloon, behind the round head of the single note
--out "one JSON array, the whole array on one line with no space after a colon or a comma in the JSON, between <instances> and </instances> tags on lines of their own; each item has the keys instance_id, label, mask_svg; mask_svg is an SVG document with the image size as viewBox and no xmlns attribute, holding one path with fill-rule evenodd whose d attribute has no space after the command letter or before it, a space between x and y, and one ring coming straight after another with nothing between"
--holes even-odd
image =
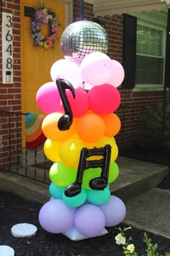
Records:
<instances>
[{"instance_id":1,"label":"leftmost orange balloon, behind the round head of the single note","mask_svg":"<svg viewBox=\"0 0 170 256\"><path fill-rule=\"evenodd\" d=\"M50 140L67 140L76 132L76 122L73 120L70 129L66 131L61 131L58 129L58 120L63 116L63 114L58 112L53 112L42 121L42 132L45 137Z\"/></svg>"}]
</instances>

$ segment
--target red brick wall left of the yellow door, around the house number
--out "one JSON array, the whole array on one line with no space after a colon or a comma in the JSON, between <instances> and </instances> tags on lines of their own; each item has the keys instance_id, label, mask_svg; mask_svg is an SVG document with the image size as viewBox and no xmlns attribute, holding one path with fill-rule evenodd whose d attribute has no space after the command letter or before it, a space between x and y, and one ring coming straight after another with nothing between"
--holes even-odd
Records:
<instances>
[{"instance_id":1,"label":"red brick wall left of the yellow door, around the house number","mask_svg":"<svg viewBox=\"0 0 170 256\"><path fill-rule=\"evenodd\" d=\"M21 145L21 120L12 114L7 116L1 111L21 111L21 67L20 67L20 1L2 1L2 12L12 14L13 19L13 71L14 83L2 84L2 54L0 54L0 136L3 148L0 148L0 167L17 161L17 146ZM1 23L0 23L1 51ZM17 129L17 121L19 129ZM11 133L9 135L9 122ZM9 140L10 137L10 140ZM17 145L18 144L18 145ZM10 148L10 152L9 152Z\"/></svg>"}]
</instances>

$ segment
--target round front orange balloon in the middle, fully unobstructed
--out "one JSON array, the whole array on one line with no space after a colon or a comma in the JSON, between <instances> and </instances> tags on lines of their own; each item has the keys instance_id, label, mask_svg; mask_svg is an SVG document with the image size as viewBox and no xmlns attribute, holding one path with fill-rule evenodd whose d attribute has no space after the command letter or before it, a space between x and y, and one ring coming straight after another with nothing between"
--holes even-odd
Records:
<instances>
[{"instance_id":1,"label":"round front orange balloon in the middle, fully unobstructed","mask_svg":"<svg viewBox=\"0 0 170 256\"><path fill-rule=\"evenodd\" d=\"M77 121L77 135L84 142L96 142L104 132L104 121L97 114L86 113Z\"/></svg>"}]
</instances>

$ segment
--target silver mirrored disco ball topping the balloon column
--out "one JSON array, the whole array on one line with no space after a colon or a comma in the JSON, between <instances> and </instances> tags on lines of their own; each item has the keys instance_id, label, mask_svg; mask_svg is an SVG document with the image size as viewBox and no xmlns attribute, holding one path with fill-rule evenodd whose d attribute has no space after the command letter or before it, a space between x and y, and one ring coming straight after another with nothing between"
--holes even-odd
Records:
<instances>
[{"instance_id":1,"label":"silver mirrored disco ball topping the balloon column","mask_svg":"<svg viewBox=\"0 0 170 256\"><path fill-rule=\"evenodd\" d=\"M87 20L73 22L61 35L61 51L69 61L80 64L86 55L94 51L106 54L107 49L107 33L96 22Z\"/></svg>"}]
</instances>

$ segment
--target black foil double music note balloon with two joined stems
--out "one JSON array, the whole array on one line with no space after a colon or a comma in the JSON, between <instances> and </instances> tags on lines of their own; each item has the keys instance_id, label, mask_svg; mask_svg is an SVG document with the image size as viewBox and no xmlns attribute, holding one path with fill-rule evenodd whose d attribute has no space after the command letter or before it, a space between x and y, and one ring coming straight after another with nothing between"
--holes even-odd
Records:
<instances>
[{"instance_id":1,"label":"black foil double music note balloon with two joined stems","mask_svg":"<svg viewBox=\"0 0 170 256\"><path fill-rule=\"evenodd\" d=\"M101 155L99 160L88 160L89 157L94 155ZM102 168L101 175L95 179L91 179L89 187L95 190L103 190L107 187L109 176L109 163L111 158L111 146L105 145L104 148L82 148L79 159L79 166L76 175L76 182L68 185L65 189L66 197L74 197L81 193L81 184L83 181L84 171L88 168Z\"/></svg>"}]
</instances>

